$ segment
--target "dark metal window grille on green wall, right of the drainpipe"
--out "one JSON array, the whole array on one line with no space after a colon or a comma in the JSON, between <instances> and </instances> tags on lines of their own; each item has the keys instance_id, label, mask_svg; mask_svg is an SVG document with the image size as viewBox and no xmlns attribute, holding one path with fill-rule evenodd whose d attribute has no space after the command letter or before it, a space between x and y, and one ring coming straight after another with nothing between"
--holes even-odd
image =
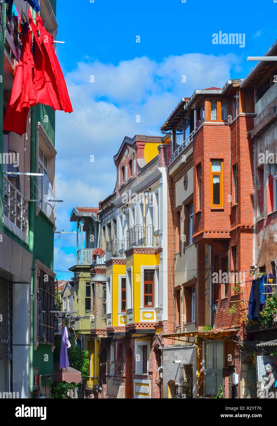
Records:
<instances>
[{"instance_id":1,"label":"dark metal window grille on green wall, right of the drainpipe","mask_svg":"<svg viewBox=\"0 0 277 426\"><path fill-rule=\"evenodd\" d=\"M37 340L54 343L55 316L54 278L37 269ZM45 312L44 312L45 311Z\"/></svg>"}]
</instances>

